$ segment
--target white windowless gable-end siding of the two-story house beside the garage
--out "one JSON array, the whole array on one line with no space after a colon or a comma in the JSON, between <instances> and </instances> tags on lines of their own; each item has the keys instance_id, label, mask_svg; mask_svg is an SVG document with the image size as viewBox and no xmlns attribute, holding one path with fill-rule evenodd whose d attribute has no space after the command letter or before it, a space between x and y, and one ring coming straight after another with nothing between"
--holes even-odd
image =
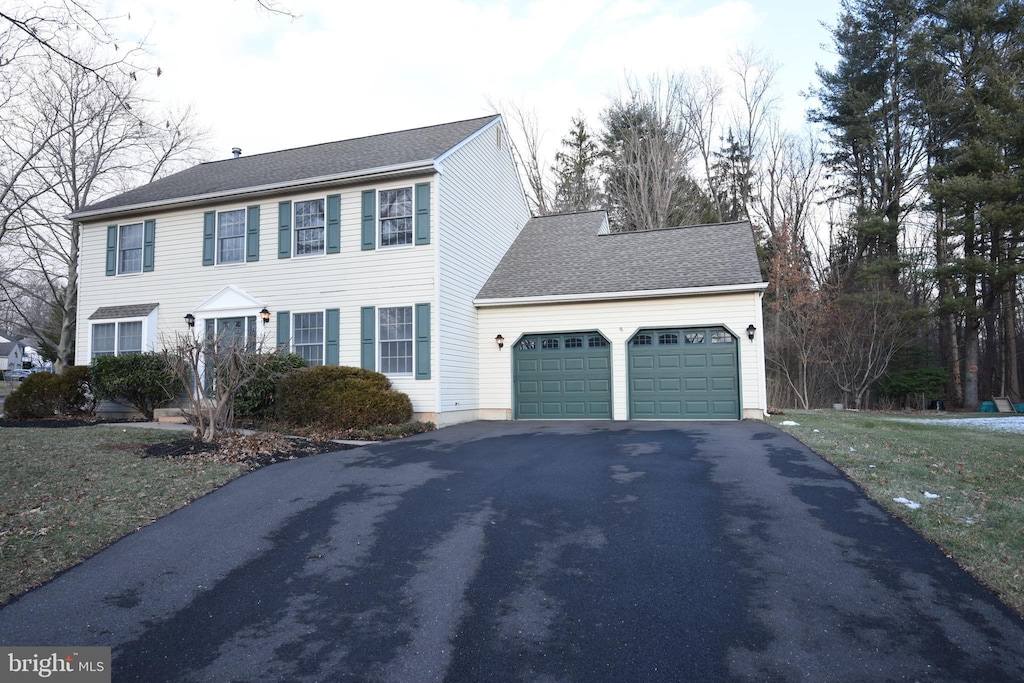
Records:
<instances>
[{"instance_id":1,"label":"white windowless gable-end siding of the two-story house beside the garage","mask_svg":"<svg viewBox=\"0 0 1024 683\"><path fill-rule=\"evenodd\" d=\"M476 340L498 334L478 326L473 298L529 220L504 129L498 143L499 126L488 126L452 153L440 170L440 410L453 413L451 421L474 417L455 413L480 407Z\"/></svg>"}]
</instances>

